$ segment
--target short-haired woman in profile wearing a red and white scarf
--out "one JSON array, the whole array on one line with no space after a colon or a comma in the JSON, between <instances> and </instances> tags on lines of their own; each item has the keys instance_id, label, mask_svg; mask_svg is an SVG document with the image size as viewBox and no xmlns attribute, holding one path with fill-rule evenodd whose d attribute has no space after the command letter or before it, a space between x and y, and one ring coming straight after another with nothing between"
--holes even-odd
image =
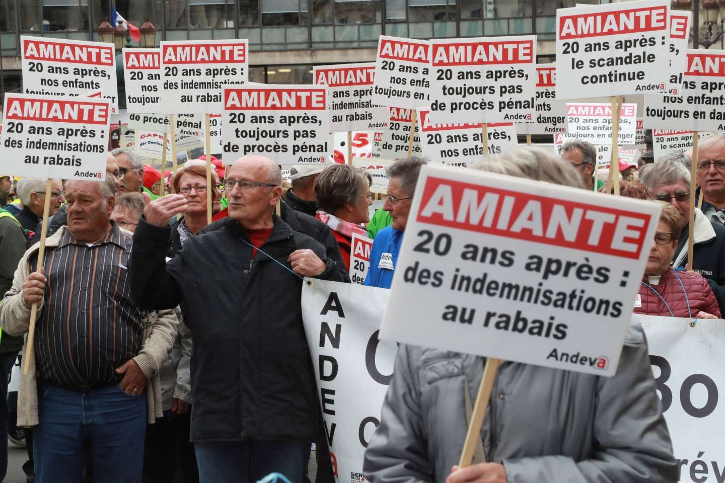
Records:
<instances>
[{"instance_id":1,"label":"short-haired woman in profile wearing a red and white scarf","mask_svg":"<svg viewBox=\"0 0 725 483\"><path fill-rule=\"evenodd\" d=\"M317 218L331 228L348 271L352 234L368 236L364 225L370 221L368 207L373 204L372 183L373 177L369 173L349 164L326 167L315 182Z\"/></svg>"}]
</instances>

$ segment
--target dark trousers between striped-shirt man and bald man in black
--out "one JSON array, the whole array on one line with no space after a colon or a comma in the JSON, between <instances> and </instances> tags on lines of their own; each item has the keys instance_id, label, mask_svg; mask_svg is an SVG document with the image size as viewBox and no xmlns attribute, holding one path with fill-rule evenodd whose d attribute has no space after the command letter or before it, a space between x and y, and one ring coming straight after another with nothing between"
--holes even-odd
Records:
<instances>
[{"instance_id":1,"label":"dark trousers between striped-shirt man and bald man in black","mask_svg":"<svg viewBox=\"0 0 725 483\"><path fill-rule=\"evenodd\" d=\"M191 412L164 411L146 426L144 483L198 483L194 444L188 440Z\"/></svg>"}]
</instances>

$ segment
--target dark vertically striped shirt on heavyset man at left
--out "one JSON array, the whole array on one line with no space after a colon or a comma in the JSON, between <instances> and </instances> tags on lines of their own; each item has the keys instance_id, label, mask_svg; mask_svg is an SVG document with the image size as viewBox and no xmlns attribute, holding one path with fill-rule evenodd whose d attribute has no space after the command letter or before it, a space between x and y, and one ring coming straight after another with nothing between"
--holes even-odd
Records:
<instances>
[{"instance_id":1,"label":"dark vertically striped shirt on heavyset man at left","mask_svg":"<svg viewBox=\"0 0 725 483\"><path fill-rule=\"evenodd\" d=\"M41 379L70 389L112 384L123 377L114 369L141 350L144 314L130 300L126 269L131 240L114 224L91 246L66 230L49 247L34 345Z\"/></svg>"}]
</instances>

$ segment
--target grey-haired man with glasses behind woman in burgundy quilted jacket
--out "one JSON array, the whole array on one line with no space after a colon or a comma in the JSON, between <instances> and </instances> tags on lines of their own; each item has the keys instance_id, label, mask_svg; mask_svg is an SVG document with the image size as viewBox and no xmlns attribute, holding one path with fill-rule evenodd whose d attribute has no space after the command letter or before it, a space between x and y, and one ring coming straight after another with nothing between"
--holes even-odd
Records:
<instances>
[{"instance_id":1,"label":"grey-haired man with glasses behind woman in burgundy quilted jacket","mask_svg":"<svg viewBox=\"0 0 725 483\"><path fill-rule=\"evenodd\" d=\"M689 239L689 180L686 167L676 156L663 156L654 164L645 164L639 170L639 181L647 186L653 198L670 203L679 212L679 233L672 258L673 268L687 265ZM725 308L725 227L708 220L695 208L693 226L692 270L708 279L718 300L720 310Z\"/></svg>"}]
</instances>

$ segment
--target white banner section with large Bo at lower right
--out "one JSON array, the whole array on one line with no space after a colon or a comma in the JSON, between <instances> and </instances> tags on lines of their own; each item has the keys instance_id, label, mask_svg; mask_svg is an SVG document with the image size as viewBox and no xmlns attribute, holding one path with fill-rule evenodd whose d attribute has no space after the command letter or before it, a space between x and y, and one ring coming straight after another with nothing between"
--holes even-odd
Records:
<instances>
[{"instance_id":1,"label":"white banner section with large Bo at lower right","mask_svg":"<svg viewBox=\"0 0 725 483\"><path fill-rule=\"evenodd\" d=\"M672 439L677 481L719 482L725 474L718 404L725 390L722 320L639 316L647 335L655 386ZM708 478L709 476L709 478Z\"/></svg>"}]
</instances>

